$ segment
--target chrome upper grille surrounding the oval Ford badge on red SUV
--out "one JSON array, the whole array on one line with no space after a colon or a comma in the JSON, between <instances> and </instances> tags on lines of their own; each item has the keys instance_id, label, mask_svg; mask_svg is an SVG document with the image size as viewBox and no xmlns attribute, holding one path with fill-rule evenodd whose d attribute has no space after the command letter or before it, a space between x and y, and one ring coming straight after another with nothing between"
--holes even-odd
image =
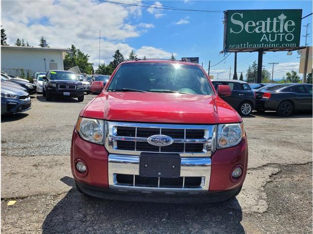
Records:
<instances>
[{"instance_id":1,"label":"chrome upper grille surrounding the oval Ford badge on red SUV","mask_svg":"<svg viewBox=\"0 0 313 234\"><path fill-rule=\"evenodd\" d=\"M106 147L110 153L140 155L141 152L179 153L181 156L210 156L215 125L175 125L106 122ZM154 135L173 139L168 146L148 142ZM214 150L214 149L213 149ZM133 152L129 152L133 151ZM197 154L197 155L194 155ZM201 155L199 155L201 154Z\"/></svg>"}]
</instances>

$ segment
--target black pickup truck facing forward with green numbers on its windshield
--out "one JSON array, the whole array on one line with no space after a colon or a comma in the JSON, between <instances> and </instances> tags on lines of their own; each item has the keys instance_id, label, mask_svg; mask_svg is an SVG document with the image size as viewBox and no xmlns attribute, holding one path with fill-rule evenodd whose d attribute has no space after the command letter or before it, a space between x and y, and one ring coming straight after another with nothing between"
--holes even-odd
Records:
<instances>
[{"instance_id":1,"label":"black pickup truck facing forward with green numbers on its windshield","mask_svg":"<svg viewBox=\"0 0 313 234\"><path fill-rule=\"evenodd\" d=\"M53 96L77 97L78 101L84 101L83 83L71 71L49 70L44 76L43 96L47 101Z\"/></svg>"}]
</instances>

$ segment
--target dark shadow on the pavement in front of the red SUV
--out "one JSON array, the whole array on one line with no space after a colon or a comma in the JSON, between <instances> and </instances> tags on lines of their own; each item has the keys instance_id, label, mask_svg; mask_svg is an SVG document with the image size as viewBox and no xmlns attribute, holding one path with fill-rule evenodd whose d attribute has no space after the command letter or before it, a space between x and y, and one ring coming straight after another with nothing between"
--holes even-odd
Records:
<instances>
[{"instance_id":1,"label":"dark shadow on the pavement in front of the red SUV","mask_svg":"<svg viewBox=\"0 0 313 234\"><path fill-rule=\"evenodd\" d=\"M123 202L80 194L73 188L42 226L50 233L245 233L237 199L211 204Z\"/></svg>"}]
</instances>

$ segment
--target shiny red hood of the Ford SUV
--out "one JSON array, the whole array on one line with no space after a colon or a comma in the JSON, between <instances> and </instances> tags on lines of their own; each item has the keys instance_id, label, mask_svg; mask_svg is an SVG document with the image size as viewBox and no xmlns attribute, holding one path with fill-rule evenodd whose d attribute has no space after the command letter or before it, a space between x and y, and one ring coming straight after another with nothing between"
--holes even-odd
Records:
<instances>
[{"instance_id":1,"label":"shiny red hood of the Ford SUV","mask_svg":"<svg viewBox=\"0 0 313 234\"><path fill-rule=\"evenodd\" d=\"M215 94L105 92L90 101L80 116L157 123L242 121L238 113Z\"/></svg>"}]
</instances>

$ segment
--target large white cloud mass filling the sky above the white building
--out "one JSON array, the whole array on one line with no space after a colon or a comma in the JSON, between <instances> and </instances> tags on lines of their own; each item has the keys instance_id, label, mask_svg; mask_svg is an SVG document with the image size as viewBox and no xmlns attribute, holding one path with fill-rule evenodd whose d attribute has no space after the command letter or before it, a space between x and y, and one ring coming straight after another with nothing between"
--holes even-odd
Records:
<instances>
[{"instance_id":1,"label":"large white cloud mass filling the sky above the white building","mask_svg":"<svg viewBox=\"0 0 313 234\"><path fill-rule=\"evenodd\" d=\"M130 23L141 16L140 7L126 7L97 1L2 1L1 25L6 31L7 43L14 45L17 38L37 47L41 36L51 47L70 47L71 44L90 55L94 66L99 62L99 29L101 29L100 62L112 60L116 49L127 57L131 49L124 43L139 37L152 23ZM136 3L140 4L140 3ZM88 10L87 10L88 9ZM138 19L136 20L138 22ZM169 52L154 47L141 47L158 56ZM163 55L162 55L163 53ZM148 53L146 54L148 56ZM169 56L168 56L169 57Z\"/></svg>"}]
</instances>

